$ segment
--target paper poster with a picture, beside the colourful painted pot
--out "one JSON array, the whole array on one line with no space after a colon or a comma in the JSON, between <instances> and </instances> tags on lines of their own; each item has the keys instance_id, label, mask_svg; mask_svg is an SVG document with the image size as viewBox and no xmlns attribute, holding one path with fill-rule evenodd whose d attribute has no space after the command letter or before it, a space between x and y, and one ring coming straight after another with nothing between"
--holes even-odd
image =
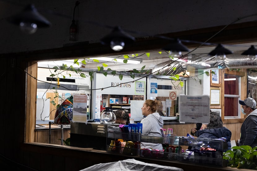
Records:
<instances>
[{"instance_id":1,"label":"paper poster with a picture, beside the colourful painted pot","mask_svg":"<svg viewBox=\"0 0 257 171\"><path fill-rule=\"evenodd\" d=\"M87 122L87 95L73 95L72 122Z\"/></svg>"}]
</instances>

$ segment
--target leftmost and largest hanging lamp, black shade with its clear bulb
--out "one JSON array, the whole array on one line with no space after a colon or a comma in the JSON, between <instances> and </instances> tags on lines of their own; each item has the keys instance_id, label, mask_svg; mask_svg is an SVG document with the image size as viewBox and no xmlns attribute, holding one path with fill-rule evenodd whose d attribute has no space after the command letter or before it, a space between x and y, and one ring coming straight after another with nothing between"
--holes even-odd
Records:
<instances>
[{"instance_id":1,"label":"leftmost and largest hanging lamp, black shade with its clear bulb","mask_svg":"<svg viewBox=\"0 0 257 171\"><path fill-rule=\"evenodd\" d=\"M9 18L8 21L19 25L20 29L28 34L35 33L39 27L49 27L51 25L45 17L37 12L32 4L26 6L22 12Z\"/></svg>"}]
</instances>

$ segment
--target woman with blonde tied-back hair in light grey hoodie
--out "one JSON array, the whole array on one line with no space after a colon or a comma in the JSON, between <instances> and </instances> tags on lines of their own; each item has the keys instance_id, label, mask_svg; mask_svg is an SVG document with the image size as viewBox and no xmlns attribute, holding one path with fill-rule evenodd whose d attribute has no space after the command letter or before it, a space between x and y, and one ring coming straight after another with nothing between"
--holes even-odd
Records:
<instances>
[{"instance_id":1,"label":"woman with blonde tied-back hair in light grey hoodie","mask_svg":"<svg viewBox=\"0 0 257 171\"><path fill-rule=\"evenodd\" d=\"M146 100L143 104L142 109L142 115L145 116L141 120L142 123L142 134L148 134L148 135L158 135L162 136L161 128L163 127L163 119L159 115L157 110L157 106L160 105L160 102L158 100ZM152 150L163 150L162 144L159 143L144 143L141 142L141 149L143 148L150 148Z\"/></svg>"}]
</instances>

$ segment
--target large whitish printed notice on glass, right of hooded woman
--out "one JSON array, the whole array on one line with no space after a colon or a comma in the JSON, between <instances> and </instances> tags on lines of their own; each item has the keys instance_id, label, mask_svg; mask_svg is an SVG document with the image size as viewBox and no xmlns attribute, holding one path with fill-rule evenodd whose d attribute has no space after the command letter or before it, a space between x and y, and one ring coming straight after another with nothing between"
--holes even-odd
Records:
<instances>
[{"instance_id":1,"label":"large whitish printed notice on glass, right of hooded woman","mask_svg":"<svg viewBox=\"0 0 257 171\"><path fill-rule=\"evenodd\" d=\"M209 96L179 96L179 122L209 123Z\"/></svg>"}]
</instances>

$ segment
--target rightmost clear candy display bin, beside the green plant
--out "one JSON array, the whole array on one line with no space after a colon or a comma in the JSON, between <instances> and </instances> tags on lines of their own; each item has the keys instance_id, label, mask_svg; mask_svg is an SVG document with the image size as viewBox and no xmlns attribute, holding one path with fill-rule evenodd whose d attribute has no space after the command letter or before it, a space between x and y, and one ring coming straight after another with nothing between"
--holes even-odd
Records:
<instances>
[{"instance_id":1,"label":"rightmost clear candy display bin, beside the green plant","mask_svg":"<svg viewBox=\"0 0 257 171\"><path fill-rule=\"evenodd\" d=\"M179 161L203 165L226 167L227 161L222 159L223 152L228 149L224 139L204 139L180 137L180 146L187 148L179 155Z\"/></svg>"}]
</instances>

